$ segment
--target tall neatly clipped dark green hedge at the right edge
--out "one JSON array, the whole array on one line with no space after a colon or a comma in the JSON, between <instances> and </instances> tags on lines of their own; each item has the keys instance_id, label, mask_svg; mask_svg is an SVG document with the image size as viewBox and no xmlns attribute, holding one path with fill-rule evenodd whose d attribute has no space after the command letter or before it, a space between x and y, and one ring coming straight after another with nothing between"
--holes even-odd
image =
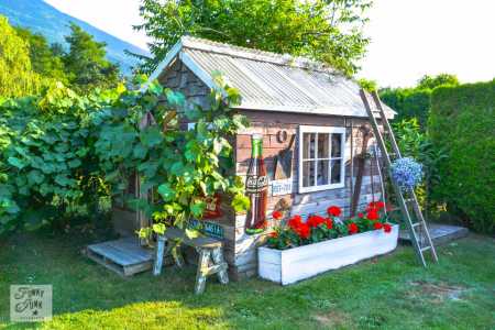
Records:
<instances>
[{"instance_id":1,"label":"tall neatly clipped dark green hedge at the right edge","mask_svg":"<svg viewBox=\"0 0 495 330\"><path fill-rule=\"evenodd\" d=\"M495 79L439 87L431 97L428 131L448 158L439 162L435 198L474 230L495 232Z\"/></svg>"}]
</instances>

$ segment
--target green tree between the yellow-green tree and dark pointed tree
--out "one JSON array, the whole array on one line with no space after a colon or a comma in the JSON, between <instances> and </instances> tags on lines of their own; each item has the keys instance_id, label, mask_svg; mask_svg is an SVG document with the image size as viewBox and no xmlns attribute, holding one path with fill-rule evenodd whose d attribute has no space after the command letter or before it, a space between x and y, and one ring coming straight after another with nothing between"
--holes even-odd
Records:
<instances>
[{"instance_id":1,"label":"green tree between the yellow-green tree and dark pointed tree","mask_svg":"<svg viewBox=\"0 0 495 330\"><path fill-rule=\"evenodd\" d=\"M55 53L42 34L32 33L24 28L15 28L15 31L29 44L33 70L44 77L66 84L67 77L62 61L63 53Z\"/></svg>"}]
</instances>

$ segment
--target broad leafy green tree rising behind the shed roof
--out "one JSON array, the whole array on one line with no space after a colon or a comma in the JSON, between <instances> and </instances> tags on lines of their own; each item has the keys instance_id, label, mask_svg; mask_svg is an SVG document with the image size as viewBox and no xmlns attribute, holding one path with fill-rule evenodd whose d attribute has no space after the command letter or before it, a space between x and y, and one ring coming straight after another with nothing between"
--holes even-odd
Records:
<instances>
[{"instance_id":1,"label":"broad leafy green tree rising behind the shed roof","mask_svg":"<svg viewBox=\"0 0 495 330\"><path fill-rule=\"evenodd\" d=\"M268 52L304 55L352 75L369 40L362 34L369 0L143 0L143 30L154 42L152 70L182 35Z\"/></svg>"}]
</instances>

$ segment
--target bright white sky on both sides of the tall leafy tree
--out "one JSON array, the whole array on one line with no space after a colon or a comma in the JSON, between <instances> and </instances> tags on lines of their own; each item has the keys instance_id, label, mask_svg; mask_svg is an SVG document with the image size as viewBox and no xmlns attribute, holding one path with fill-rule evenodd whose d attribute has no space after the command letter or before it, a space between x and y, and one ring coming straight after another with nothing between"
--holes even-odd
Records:
<instances>
[{"instance_id":1,"label":"bright white sky on both sides of the tall leafy tree","mask_svg":"<svg viewBox=\"0 0 495 330\"><path fill-rule=\"evenodd\" d=\"M133 31L140 0L45 0L143 48ZM411 86L425 74L452 73L461 81L495 77L495 1L374 0L365 32L372 38L358 76L381 86Z\"/></svg>"}]
</instances>

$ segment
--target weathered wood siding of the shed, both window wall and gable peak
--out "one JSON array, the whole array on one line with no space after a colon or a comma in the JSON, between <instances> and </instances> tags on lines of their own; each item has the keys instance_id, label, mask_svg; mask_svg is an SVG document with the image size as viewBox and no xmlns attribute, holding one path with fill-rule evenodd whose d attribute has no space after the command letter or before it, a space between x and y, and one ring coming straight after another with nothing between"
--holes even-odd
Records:
<instances>
[{"instance_id":1,"label":"weathered wood siding of the shed, both window wall and gable peak","mask_svg":"<svg viewBox=\"0 0 495 330\"><path fill-rule=\"evenodd\" d=\"M208 107L208 87L187 67L176 61L168 70L160 78L160 81L174 90L184 92L189 101L202 107ZM362 119L344 119L343 117L315 116L305 113L280 113L266 111L241 111L250 121L251 127L235 136L233 141L235 150L235 173L245 177L251 157L251 134L262 133L263 156L267 167L268 175L274 172L275 156L282 150L288 146L290 136L296 134L296 141L293 145L293 194L270 197L268 213L272 212L280 202L285 201L292 215L324 213L331 205L341 207L345 215L350 212L351 206L351 135L353 139L353 155L361 150L362 132L360 125L365 123ZM298 128L299 125L328 125L346 128L345 134L345 186L339 189L323 190L317 193L298 194ZM288 139L280 143L277 141L278 131L286 131ZM373 140L370 141L370 145ZM372 177L370 176L370 161L366 161L366 169L363 177L362 194L358 210L362 209L372 200ZM356 162L354 162L356 164ZM374 168L374 193L375 198L380 198L380 177ZM354 168L354 174L356 168ZM254 276L257 273L257 252L256 248L262 244L266 234L248 235L244 233L245 213L235 215L228 198L222 198L222 217L209 220L218 222L223 228L224 257L229 263L229 273L232 279L242 279Z\"/></svg>"}]
</instances>

